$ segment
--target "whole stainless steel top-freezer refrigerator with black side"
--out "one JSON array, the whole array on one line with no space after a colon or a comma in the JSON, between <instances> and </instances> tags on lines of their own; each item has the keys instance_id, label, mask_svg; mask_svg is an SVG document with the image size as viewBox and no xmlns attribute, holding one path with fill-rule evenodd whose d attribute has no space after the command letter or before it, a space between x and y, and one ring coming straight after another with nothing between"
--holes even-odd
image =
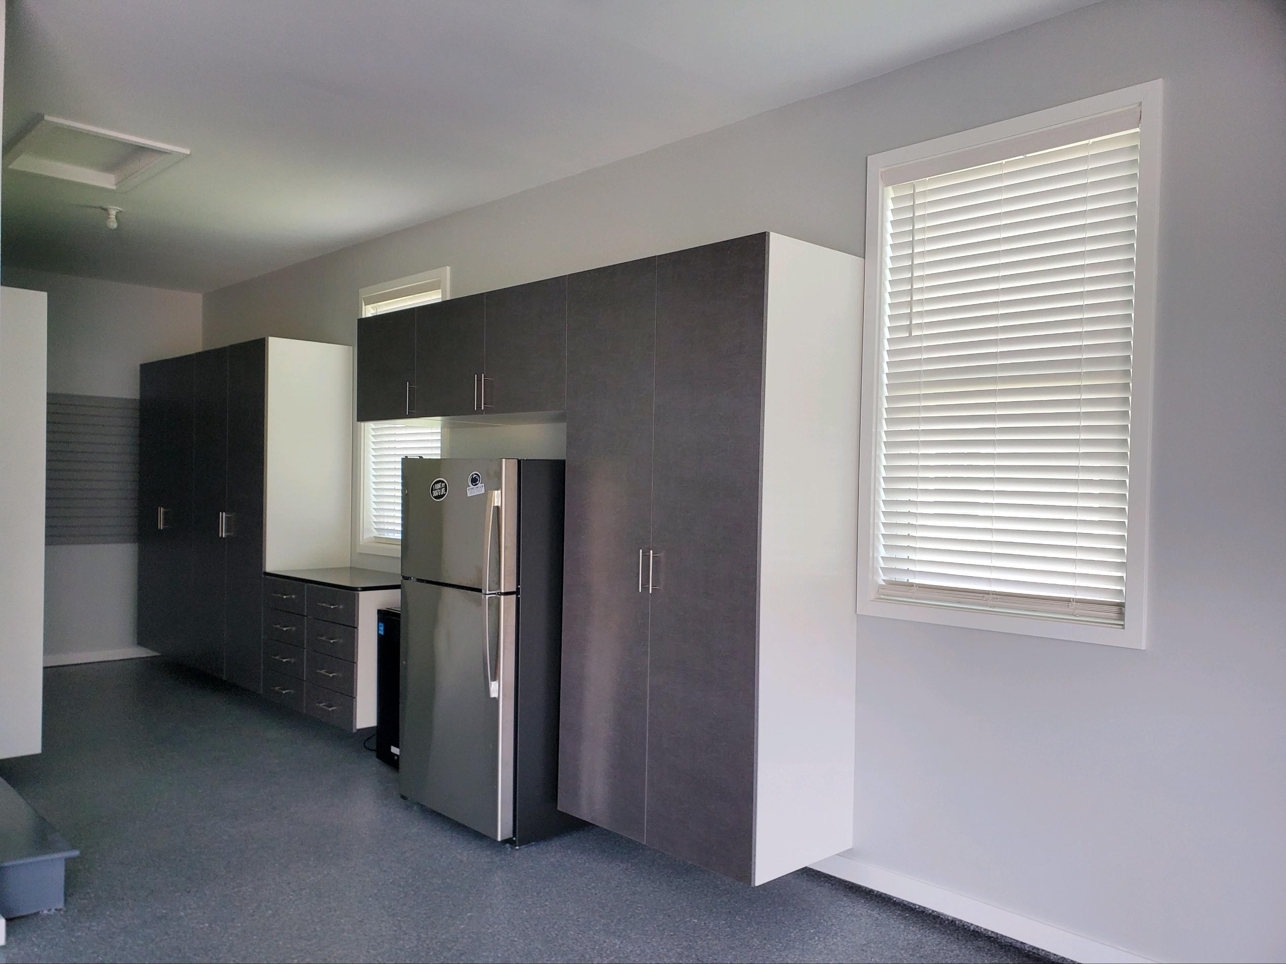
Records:
<instances>
[{"instance_id":1,"label":"whole stainless steel top-freezer refrigerator with black side","mask_svg":"<svg viewBox=\"0 0 1286 964\"><path fill-rule=\"evenodd\" d=\"M563 463L403 460L401 794L496 841L557 808Z\"/></svg>"}]
</instances>

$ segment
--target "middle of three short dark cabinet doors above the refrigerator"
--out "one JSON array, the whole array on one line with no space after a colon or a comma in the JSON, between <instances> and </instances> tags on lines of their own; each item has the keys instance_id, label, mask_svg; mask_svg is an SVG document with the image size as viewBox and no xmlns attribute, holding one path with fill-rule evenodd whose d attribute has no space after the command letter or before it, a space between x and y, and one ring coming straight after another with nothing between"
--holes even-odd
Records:
<instances>
[{"instance_id":1,"label":"middle of three short dark cabinet doors above the refrigerator","mask_svg":"<svg viewBox=\"0 0 1286 964\"><path fill-rule=\"evenodd\" d=\"M421 305L415 312L415 414L475 414L481 404L484 296Z\"/></svg>"}]
</instances>

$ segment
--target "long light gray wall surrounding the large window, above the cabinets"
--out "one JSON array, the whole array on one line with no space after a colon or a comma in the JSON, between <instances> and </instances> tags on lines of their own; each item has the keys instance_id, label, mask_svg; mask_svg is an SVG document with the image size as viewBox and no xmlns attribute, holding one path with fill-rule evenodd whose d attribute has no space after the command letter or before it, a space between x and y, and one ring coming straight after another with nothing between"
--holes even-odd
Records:
<instances>
[{"instance_id":1,"label":"long light gray wall surrounding the large window, above the cabinets","mask_svg":"<svg viewBox=\"0 0 1286 964\"><path fill-rule=\"evenodd\" d=\"M1146 652L860 621L853 856L1137 954L1286 954L1286 23L1103 3L204 301L351 343L469 294L756 230L862 253L868 154L1165 78ZM856 361L854 361L856 373Z\"/></svg>"}]
</instances>

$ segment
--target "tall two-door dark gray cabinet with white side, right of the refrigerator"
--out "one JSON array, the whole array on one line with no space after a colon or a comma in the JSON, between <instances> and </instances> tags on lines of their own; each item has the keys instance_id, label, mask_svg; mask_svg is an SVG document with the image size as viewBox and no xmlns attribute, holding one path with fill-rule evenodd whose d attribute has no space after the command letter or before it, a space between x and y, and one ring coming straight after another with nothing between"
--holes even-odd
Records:
<instances>
[{"instance_id":1,"label":"tall two-door dark gray cabinet with white side, right of the refrigerator","mask_svg":"<svg viewBox=\"0 0 1286 964\"><path fill-rule=\"evenodd\" d=\"M558 805L747 883L853 839L860 270L568 279Z\"/></svg>"}]
</instances>

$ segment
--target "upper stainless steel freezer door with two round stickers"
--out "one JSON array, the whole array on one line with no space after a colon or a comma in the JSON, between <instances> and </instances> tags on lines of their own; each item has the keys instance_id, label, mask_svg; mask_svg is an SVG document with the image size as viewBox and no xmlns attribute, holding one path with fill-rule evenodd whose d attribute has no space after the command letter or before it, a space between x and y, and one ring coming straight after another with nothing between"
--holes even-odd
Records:
<instances>
[{"instance_id":1,"label":"upper stainless steel freezer door with two round stickers","mask_svg":"<svg viewBox=\"0 0 1286 964\"><path fill-rule=\"evenodd\" d=\"M517 518L517 459L403 460L403 576L516 591Z\"/></svg>"}]
</instances>

